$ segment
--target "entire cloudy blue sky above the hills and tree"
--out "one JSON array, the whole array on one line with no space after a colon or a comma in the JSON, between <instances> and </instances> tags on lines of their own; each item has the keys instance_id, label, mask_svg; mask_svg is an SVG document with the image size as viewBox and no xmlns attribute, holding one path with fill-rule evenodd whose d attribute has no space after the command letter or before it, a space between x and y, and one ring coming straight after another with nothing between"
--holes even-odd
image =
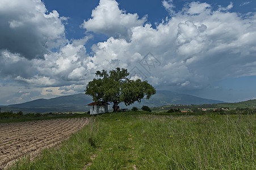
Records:
<instances>
[{"instance_id":1,"label":"entire cloudy blue sky above the hills and tree","mask_svg":"<svg viewBox=\"0 0 256 170\"><path fill-rule=\"evenodd\" d=\"M1 0L0 105L78 94L97 70L256 99L256 1Z\"/></svg>"}]
</instances>

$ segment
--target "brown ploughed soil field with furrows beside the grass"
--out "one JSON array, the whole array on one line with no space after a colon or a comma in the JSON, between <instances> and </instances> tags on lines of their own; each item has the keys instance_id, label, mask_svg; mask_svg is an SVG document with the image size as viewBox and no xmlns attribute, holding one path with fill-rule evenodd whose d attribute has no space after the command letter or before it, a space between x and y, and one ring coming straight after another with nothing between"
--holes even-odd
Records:
<instances>
[{"instance_id":1,"label":"brown ploughed soil field with furrows beside the grass","mask_svg":"<svg viewBox=\"0 0 256 170\"><path fill-rule=\"evenodd\" d=\"M24 155L35 157L68 139L88 124L88 118L67 118L0 124L0 169Z\"/></svg>"}]
</instances>

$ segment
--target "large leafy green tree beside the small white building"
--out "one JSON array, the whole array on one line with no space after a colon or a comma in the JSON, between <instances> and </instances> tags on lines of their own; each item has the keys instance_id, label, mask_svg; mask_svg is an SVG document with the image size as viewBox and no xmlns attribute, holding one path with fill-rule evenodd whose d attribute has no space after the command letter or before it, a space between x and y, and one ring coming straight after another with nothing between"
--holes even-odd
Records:
<instances>
[{"instance_id":1,"label":"large leafy green tree beside the small white building","mask_svg":"<svg viewBox=\"0 0 256 170\"><path fill-rule=\"evenodd\" d=\"M156 89L147 81L140 79L131 80L128 78L127 69L97 71L96 77L86 85L85 94L93 97L98 103L113 103L113 112L117 111L119 103L131 105L135 101L141 102L142 99L149 99L156 94Z\"/></svg>"}]
</instances>

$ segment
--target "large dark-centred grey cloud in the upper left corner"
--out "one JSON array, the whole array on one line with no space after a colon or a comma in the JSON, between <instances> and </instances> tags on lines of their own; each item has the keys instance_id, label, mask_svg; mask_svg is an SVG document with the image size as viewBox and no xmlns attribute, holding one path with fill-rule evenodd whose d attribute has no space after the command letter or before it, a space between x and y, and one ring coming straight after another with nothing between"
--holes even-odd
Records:
<instances>
[{"instance_id":1,"label":"large dark-centred grey cloud in the upper left corner","mask_svg":"<svg viewBox=\"0 0 256 170\"><path fill-rule=\"evenodd\" d=\"M57 11L47 12L40 1L0 2L0 49L27 59L44 58L56 40L64 40L64 25ZM54 41L53 43L51 41ZM58 41L60 42L60 41Z\"/></svg>"}]
</instances>

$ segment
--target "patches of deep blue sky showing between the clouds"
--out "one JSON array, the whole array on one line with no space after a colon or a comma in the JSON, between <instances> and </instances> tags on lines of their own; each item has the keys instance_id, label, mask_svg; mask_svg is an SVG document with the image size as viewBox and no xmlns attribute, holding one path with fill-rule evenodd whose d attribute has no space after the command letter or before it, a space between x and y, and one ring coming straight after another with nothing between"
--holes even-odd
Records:
<instances>
[{"instance_id":1,"label":"patches of deep blue sky showing between the clouds","mask_svg":"<svg viewBox=\"0 0 256 170\"><path fill-rule=\"evenodd\" d=\"M85 19L91 17L91 11L99 4L99 1L62 1L62 0L44 0L43 1L48 11L57 10L61 16L68 16L69 20L66 25L66 37L68 39L79 39L85 33L84 29L79 29L79 25ZM148 15L148 22L152 24L152 27L156 28L154 23L161 23L162 19L168 16L168 12L165 7L162 6L162 1L152 1L152 0L131 0L131 1L117 1L119 3L119 8L123 9L129 13L137 13L140 17ZM175 10L180 11L187 3L194 2L192 0L183 1L173 1L175 5ZM220 0L210 0L210 1L195 1L195 2L207 2L213 5L213 8L217 8L219 5L228 6L230 2L233 2L234 7L230 10L231 12L252 12L255 11L256 2L255 1L220 1ZM250 2L243 5L243 3ZM243 5L243 6L242 6ZM99 41L106 41L107 36L104 35L94 35L94 39L90 40L86 44L87 49L90 51L90 46Z\"/></svg>"}]
</instances>

